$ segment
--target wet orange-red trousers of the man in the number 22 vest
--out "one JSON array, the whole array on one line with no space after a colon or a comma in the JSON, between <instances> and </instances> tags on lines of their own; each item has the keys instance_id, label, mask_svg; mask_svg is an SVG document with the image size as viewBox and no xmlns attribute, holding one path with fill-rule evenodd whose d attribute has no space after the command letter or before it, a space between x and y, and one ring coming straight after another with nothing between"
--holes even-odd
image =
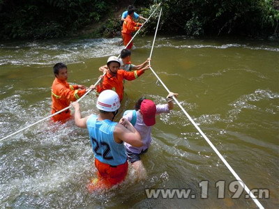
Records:
<instances>
[{"instance_id":1,"label":"wet orange-red trousers of the man in the number 22 vest","mask_svg":"<svg viewBox=\"0 0 279 209\"><path fill-rule=\"evenodd\" d=\"M127 161L114 167L95 158L95 166L98 169L98 180L93 180L87 185L89 192L96 189L110 189L113 185L121 183L128 173Z\"/></svg>"}]
</instances>

